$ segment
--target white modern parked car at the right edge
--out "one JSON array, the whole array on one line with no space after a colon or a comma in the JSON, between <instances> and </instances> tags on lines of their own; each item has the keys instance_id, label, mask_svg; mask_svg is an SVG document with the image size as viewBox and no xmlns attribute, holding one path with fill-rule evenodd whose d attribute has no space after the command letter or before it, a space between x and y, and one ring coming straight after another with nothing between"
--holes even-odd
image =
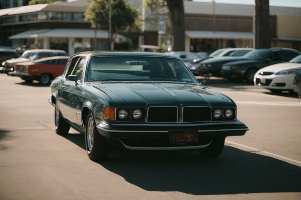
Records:
<instances>
[{"instance_id":1,"label":"white modern parked car at the right edge","mask_svg":"<svg viewBox=\"0 0 301 200\"><path fill-rule=\"evenodd\" d=\"M289 91L293 93L293 78L297 70L301 69L301 55L290 62L273 64L257 71L254 85L269 89L273 93Z\"/></svg>"}]
</instances>

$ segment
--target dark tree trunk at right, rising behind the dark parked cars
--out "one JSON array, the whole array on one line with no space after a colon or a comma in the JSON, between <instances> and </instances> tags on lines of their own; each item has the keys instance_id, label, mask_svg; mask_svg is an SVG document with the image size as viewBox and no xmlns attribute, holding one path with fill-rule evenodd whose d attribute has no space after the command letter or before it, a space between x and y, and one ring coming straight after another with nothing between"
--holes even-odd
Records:
<instances>
[{"instance_id":1,"label":"dark tree trunk at right, rising behind the dark parked cars","mask_svg":"<svg viewBox=\"0 0 301 200\"><path fill-rule=\"evenodd\" d=\"M269 0L255 0L253 32L254 48L271 47Z\"/></svg>"}]
</instances>

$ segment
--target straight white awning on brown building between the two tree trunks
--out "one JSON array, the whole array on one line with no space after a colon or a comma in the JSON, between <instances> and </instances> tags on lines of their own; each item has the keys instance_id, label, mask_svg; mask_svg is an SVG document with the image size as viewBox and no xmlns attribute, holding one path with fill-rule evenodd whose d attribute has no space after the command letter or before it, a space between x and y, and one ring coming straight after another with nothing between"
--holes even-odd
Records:
<instances>
[{"instance_id":1,"label":"straight white awning on brown building between the two tree trunks","mask_svg":"<svg viewBox=\"0 0 301 200\"><path fill-rule=\"evenodd\" d=\"M209 39L253 39L252 32L231 32L231 31L185 31L190 38Z\"/></svg>"}]
</instances>

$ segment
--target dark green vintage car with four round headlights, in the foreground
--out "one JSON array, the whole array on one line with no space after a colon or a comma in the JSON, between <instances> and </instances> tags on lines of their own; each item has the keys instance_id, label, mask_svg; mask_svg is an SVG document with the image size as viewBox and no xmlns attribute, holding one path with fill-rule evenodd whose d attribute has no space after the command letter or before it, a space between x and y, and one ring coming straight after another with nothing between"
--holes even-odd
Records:
<instances>
[{"instance_id":1,"label":"dark green vintage car with four round headlights, in the foreground","mask_svg":"<svg viewBox=\"0 0 301 200\"><path fill-rule=\"evenodd\" d=\"M56 133L84 133L91 160L107 159L111 145L217 157L226 136L249 130L233 100L203 87L180 58L159 53L73 55L51 83L49 102Z\"/></svg>"}]
</instances>

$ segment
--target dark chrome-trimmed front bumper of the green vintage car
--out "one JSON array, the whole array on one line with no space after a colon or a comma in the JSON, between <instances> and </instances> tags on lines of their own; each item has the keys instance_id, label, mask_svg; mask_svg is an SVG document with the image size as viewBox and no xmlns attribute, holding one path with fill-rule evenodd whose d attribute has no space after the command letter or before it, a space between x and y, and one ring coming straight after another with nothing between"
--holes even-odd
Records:
<instances>
[{"instance_id":1,"label":"dark chrome-trimmed front bumper of the green vintage car","mask_svg":"<svg viewBox=\"0 0 301 200\"><path fill-rule=\"evenodd\" d=\"M234 122L218 122L203 124L108 124L97 125L98 132L110 143L121 143L123 147L134 150L172 150L172 149L199 149L210 145L214 137L243 136L249 128L237 120ZM195 145L172 146L167 144L169 131L197 130L200 140L207 142ZM125 144L124 139L150 139L165 141L165 146L132 146ZM211 139L211 140L210 140Z\"/></svg>"}]
</instances>

